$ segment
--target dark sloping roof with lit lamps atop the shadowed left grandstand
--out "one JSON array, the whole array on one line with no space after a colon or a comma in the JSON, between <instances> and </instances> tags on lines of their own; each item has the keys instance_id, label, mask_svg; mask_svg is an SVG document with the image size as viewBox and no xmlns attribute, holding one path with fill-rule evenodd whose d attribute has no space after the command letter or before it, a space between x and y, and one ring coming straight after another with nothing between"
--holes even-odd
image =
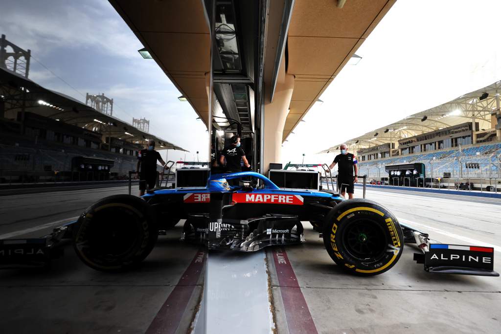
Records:
<instances>
[{"instance_id":1,"label":"dark sloping roof with lit lamps atop the shadowed left grandstand","mask_svg":"<svg viewBox=\"0 0 501 334\"><path fill-rule=\"evenodd\" d=\"M23 97L26 90L26 96ZM0 94L5 101L7 118L16 119L17 113L25 110L76 125L89 130L98 127L106 137L116 137L129 142L146 144L148 139L157 143L157 150L187 150L174 145L160 137L141 131L130 123L116 117L100 113L70 96L44 88L30 79L15 72L0 68Z\"/></svg>"}]
</instances>

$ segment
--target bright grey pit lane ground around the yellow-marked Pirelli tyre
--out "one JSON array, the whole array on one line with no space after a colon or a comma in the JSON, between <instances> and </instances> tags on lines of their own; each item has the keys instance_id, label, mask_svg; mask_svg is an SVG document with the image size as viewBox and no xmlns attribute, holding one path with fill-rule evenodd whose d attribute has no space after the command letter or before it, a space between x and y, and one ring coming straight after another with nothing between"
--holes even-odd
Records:
<instances>
[{"instance_id":1,"label":"bright grey pit lane ground around the yellow-marked Pirelli tyre","mask_svg":"<svg viewBox=\"0 0 501 334\"><path fill-rule=\"evenodd\" d=\"M356 197L361 197L361 189L355 191ZM493 244L494 270L501 272L501 201L485 203L463 196L386 189L368 189L367 198L443 243L471 244L460 239L467 238L480 246ZM318 233L308 224L304 226L307 242L286 250L319 332L499 332L500 277L427 273L422 264L412 260L413 253L419 251L407 245L398 263L386 273L351 276L333 265ZM282 323L279 332L286 333L273 270L271 278L276 315Z\"/></svg>"}]
</instances>

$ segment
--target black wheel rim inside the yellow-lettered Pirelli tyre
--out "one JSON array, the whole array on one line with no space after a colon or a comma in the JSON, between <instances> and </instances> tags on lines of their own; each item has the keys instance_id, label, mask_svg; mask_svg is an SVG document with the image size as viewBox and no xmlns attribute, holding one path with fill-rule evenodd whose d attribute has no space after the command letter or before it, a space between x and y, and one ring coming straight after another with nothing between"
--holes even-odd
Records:
<instances>
[{"instance_id":1,"label":"black wheel rim inside the yellow-lettered Pirelli tyre","mask_svg":"<svg viewBox=\"0 0 501 334\"><path fill-rule=\"evenodd\" d=\"M386 251L386 234L382 227L367 219L350 222L343 233L348 253L360 260L377 259Z\"/></svg>"}]
</instances>

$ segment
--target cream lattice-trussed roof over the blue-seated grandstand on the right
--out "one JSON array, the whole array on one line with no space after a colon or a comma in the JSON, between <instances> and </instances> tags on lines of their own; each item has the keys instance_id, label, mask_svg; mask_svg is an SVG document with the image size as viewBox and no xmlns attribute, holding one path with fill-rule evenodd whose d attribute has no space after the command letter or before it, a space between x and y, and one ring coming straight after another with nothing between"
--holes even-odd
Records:
<instances>
[{"instance_id":1,"label":"cream lattice-trussed roof over the blue-seated grandstand on the right","mask_svg":"<svg viewBox=\"0 0 501 334\"><path fill-rule=\"evenodd\" d=\"M484 93L487 93L488 96L480 100ZM497 81L487 87L461 95L452 101L407 116L398 122L374 129L362 136L349 139L345 143L352 150L394 143L399 139L471 122L473 118L475 122L479 123L480 132L489 131L492 128L490 115L499 112L500 93L501 81ZM319 153L329 153L337 150L341 144L331 146Z\"/></svg>"}]
</instances>

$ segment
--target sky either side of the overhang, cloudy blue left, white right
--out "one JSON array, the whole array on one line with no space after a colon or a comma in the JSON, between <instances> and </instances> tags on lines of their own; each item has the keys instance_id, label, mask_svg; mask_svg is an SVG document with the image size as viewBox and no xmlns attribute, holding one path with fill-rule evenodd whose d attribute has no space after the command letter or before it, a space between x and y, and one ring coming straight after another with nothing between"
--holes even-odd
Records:
<instances>
[{"instance_id":1,"label":"sky either side of the overhang, cloudy blue left, white right","mask_svg":"<svg viewBox=\"0 0 501 334\"><path fill-rule=\"evenodd\" d=\"M80 101L114 99L113 115L150 120L181 146L169 160L206 159L207 132L189 103L103 0L2 0L0 34L32 50L30 79ZM398 0L283 145L283 162L330 162L316 153L501 79L501 1ZM44 64L58 77L47 71ZM71 87L70 87L71 86ZM83 96L82 96L83 95ZM165 153L163 153L165 157Z\"/></svg>"}]
</instances>

